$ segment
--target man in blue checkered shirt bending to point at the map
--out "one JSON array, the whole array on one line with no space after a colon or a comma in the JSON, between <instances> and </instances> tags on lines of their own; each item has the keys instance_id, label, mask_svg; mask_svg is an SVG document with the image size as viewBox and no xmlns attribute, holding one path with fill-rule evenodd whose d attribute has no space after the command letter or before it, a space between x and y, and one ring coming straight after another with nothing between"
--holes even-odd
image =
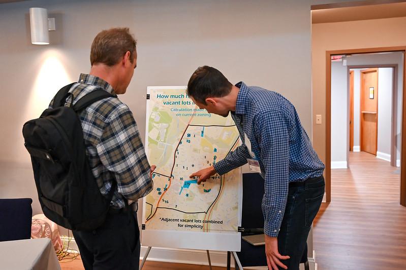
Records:
<instances>
[{"instance_id":1,"label":"man in blue checkered shirt bending to point at the map","mask_svg":"<svg viewBox=\"0 0 406 270\"><path fill-rule=\"evenodd\" d=\"M191 177L198 183L249 163L265 179L262 199L265 252L269 269L299 269L311 223L324 195L324 164L300 124L295 107L282 95L243 82L232 85L217 69L199 67L188 95L201 109L231 113L243 142L222 161Z\"/></svg>"}]
</instances>

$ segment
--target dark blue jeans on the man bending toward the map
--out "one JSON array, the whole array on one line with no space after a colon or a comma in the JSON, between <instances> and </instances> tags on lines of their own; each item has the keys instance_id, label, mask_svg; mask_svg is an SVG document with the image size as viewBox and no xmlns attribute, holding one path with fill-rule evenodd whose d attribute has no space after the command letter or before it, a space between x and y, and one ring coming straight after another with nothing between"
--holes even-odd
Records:
<instances>
[{"instance_id":1,"label":"dark blue jeans on the man bending toward the map","mask_svg":"<svg viewBox=\"0 0 406 270\"><path fill-rule=\"evenodd\" d=\"M278 234L279 253L290 256L290 259L282 260L289 270L299 269L300 260L307 250L307 236L320 209L324 186L323 176L289 185L288 201Z\"/></svg>"}]
</instances>

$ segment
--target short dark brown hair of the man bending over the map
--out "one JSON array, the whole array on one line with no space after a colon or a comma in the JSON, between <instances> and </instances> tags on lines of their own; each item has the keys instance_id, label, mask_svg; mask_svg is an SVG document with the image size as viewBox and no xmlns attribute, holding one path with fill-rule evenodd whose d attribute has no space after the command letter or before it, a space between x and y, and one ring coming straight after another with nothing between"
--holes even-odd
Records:
<instances>
[{"instance_id":1,"label":"short dark brown hair of the man bending over the map","mask_svg":"<svg viewBox=\"0 0 406 270\"><path fill-rule=\"evenodd\" d=\"M208 97L227 96L233 85L222 72L211 66L201 66L189 79L186 93L200 103L206 104Z\"/></svg>"}]
</instances>

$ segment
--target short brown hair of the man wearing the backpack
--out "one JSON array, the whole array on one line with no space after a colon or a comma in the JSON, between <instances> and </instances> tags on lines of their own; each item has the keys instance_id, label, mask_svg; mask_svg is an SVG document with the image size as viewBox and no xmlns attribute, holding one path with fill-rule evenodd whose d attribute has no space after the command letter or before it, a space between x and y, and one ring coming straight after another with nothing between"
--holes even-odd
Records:
<instances>
[{"instance_id":1,"label":"short brown hair of the man wearing the backpack","mask_svg":"<svg viewBox=\"0 0 406 270\"><path fill-rule=\"evenodd\" d=\"M111 28L97 34L91 44L90 64L102 63L113 66L129 51L134 61L137 41L129 28Z\"/></svg>"}]
</instances>

